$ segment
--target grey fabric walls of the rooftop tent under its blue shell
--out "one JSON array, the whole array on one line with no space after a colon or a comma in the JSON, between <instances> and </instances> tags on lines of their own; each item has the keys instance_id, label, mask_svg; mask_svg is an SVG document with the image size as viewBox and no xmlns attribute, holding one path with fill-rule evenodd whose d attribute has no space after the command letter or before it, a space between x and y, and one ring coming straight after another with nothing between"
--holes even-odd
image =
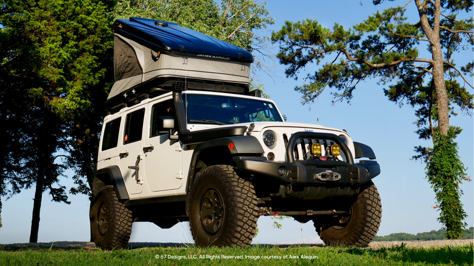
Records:
<instances>
[{"instance_id":1,"label":"grey fabric walls of the rooftop tent under its blue shell","mask_svg":"<svg viewBox=\"0 0 474 266\"><path fill-rule=\"evenodd\" d=\"M115 34L114 50L116 82L108 100L143 82L165 76L250 84L250 62L219 61L174 53L160 53L157 57L158 51L118 34ZM129 73L125 74L126 70Z\"/></svg>"}]
</instances>

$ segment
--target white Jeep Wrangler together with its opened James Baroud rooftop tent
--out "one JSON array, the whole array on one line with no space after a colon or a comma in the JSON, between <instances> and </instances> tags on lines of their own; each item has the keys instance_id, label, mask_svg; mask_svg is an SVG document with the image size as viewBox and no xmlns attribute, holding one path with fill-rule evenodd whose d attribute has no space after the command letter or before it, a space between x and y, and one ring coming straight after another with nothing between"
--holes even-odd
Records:
<instances>
[{"instance_id":1,"label":"white Jeep Wrangler together with its opened James Baroud rooftop tent","mask_svg":"<svg viewBox=\"0 0 474 266\"><path fill-rule=\"evenodd\" d=\"M200 247L245 246L262 215L313 221L327 244L374 239L380 166L369 146L284 122L249 91L253 58L237 46L144 18L118 19L114 30L116 82L90 209L97 246L126 246L133 222L182 221Z\"/></svg>"}]
</instances>

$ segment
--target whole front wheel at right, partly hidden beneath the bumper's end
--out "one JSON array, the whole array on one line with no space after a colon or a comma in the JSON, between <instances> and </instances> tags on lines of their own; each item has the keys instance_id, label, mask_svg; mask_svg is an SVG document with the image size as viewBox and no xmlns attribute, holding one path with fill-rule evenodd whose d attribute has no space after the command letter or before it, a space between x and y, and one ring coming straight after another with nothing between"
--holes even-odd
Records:
<instances>
[{"instance_id":1,"label":"whole front wheel at right, partly hidden beneath the bumper's end","mask_svg":"<svg viewBox=\"0 0 474 266\"><path fill-rule=\"evenodd\" d=\"M328 225L314 220L314 227L324 243L363 247L374 239L382 220L382 203L372 181L361 190L349 208L349 215L339 216Z\"/></svg>"}]
</instances>

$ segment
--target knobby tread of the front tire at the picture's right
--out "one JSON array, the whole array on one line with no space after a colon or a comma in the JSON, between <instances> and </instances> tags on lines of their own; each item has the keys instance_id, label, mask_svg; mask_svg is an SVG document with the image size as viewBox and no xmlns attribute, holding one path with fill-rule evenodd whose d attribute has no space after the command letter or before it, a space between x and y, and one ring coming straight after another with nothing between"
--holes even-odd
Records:
<instances>
[{"instance_id":1,"label":"knobby tread of the front tire at the picture's right","mask_svg":"<svg viewBox=\"0 0 474 266\"><path fill-rule=\"evenodd\" d=\"M361 187L361 192L357 195L355 204L358 212L351 219L356 219L356 225L352 233L344 239L335 241L328 238L325 236L324 230L321 232L315 222L316 231L324 243L364 247L375 238L382 221L382 203L374 182L368 181L365 186Z\"/></svg>"}]
</instances>

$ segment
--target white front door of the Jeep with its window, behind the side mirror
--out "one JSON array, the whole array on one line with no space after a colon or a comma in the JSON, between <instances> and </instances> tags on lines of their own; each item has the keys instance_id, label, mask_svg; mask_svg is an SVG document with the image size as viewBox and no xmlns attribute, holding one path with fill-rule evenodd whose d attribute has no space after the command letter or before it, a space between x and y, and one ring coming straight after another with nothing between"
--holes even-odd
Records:
<instances>
[{"instance_id":1,"label":"white front door of the Jeep with its window, behind the side mirror","mask_svg":"<svg viewBox=\"0 0 474 266\"><path fill-rule=\"evenodd\" d=\"M173 101L168 99L155 103L150 111L150 128L143 142L146 183L151 191L178 189L183 178L181 143L170 141L168 133L156 130L157 117L173 116Z\"/></svg>"}]
</instances>

